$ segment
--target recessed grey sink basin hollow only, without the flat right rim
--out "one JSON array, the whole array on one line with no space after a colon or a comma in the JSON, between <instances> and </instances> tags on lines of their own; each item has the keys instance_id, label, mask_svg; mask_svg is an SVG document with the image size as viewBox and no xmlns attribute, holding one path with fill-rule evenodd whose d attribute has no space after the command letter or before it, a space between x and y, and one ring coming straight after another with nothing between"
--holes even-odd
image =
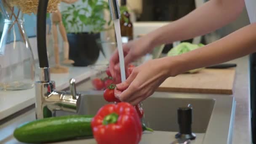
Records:
<instances>
[{"instance_id":1,"label":"recessed grey sink basin hollow only, without the flat right rim","mask_svg":"<svg viewBox=\"0 0 256 144\"><path fill-rule=\"evenodd\" d=\"M103 92L91 91L82 96L78 114L95 115L105 104L108 103L103 98ZM187 107L188 104L193 107L193 131L205 133L215 104L215 100L210 98L179 98L170 93L155 92L143 101L144 123L155 131L179 131L177 109ZM57 112L57 116L67 114L69 113Z\"/></svg>"}]
</instances>

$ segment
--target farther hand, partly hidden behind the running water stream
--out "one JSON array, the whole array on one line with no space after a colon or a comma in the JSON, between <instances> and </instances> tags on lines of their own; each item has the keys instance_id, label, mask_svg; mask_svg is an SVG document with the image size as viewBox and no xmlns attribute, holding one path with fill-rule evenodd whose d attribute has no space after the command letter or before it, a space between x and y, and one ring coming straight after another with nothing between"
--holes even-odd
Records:
<instances>
[{"instance_id":1,"label":"farther hand, partly hidden behind the running water stream","mask_svg":"<svg viewBox=\"0 0 256 144\"><path fill-rule=\"evenodd\" d=\"M128 64L132 61L139 59L141 56L151 51L154 48L154 45L151 43L151 38L149 36L144 36L138 40L133 40L124 44L123 53L125 57L125 68L127 68ZM109 69L115 81L121 82L118 50L116 50L110 58Z\"/></svg>"}]
</instances>

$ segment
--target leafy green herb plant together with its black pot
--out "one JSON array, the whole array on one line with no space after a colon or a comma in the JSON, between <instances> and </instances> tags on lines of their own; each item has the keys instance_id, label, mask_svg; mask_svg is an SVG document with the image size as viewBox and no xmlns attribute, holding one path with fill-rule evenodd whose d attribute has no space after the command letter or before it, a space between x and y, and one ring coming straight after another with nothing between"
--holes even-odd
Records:
<instances>
[{"instance_id":1,"label":"leafy green herb plant together with its black pot","mask_svg":"<svg viewBox=\"0 0 256 144\"><path fill-rule=\"evenodd\" d=\"M94 64L99 57L100 32L113 28L112 21L106 21L103 16L104 10L109 9L105 0L82 0L82 3L61 12L69 40L69 57L75 61L74 66ZM85 28L89 30L85 32Z\"/></svg>"}]
</instances>

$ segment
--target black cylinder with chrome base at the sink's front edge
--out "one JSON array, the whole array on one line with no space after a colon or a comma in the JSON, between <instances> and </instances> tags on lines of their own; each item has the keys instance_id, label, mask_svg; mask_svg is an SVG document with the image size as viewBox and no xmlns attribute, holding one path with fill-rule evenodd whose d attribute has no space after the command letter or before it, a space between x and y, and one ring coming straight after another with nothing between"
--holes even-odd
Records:
<instances>
[{"instance_id":1,"label":"black cylinder with chrome base at the sink's front edge","mask_svg":"<svg viewBox=\"0 0 256 144\"><path fill-rule=\"evenodd\" d=\"M175 135L176 139L196 138L195 133L192 133L192 107L180 107L177 110L179 133Z\"/></svg>"}]
</instances>

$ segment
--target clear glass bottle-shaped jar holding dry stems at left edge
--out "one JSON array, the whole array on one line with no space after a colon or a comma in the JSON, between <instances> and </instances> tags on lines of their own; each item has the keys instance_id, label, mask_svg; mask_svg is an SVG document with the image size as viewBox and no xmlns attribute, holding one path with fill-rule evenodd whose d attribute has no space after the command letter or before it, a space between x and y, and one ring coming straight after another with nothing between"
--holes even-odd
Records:
<instances>
[{"instance_id":1,"label":"clear glass bottle-shaped jar holding dry stems at left edge","mask_svg":"<svg viewBox=\"0 0 256 144\"><path fill-rule=\"evenodd\" d=\"M0 90L14 91L33 88L35 60L23 26L23 13L0 1L4 16L0 39Z\"/></svg>"}]
</instances>

